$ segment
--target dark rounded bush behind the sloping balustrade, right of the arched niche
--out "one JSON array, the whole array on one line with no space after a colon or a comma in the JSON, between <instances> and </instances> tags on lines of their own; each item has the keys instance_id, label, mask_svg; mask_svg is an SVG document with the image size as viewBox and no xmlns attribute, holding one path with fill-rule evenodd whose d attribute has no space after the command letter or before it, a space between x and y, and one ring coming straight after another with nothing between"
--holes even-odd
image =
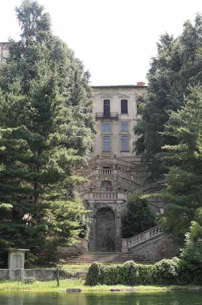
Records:
<instances>
[{"instance_id":1,"label":"dark rounded bush behind the sloping balustrade, right of the arched niche","mask_svg":"<svg viewBox=\"0 0 202 305\"><path fill-rule=\"evenodd\" d=\"M122 237L129 238L155 226L155 216L146 199L131 195L122 216Z\"/></svg>"}]
</instances>

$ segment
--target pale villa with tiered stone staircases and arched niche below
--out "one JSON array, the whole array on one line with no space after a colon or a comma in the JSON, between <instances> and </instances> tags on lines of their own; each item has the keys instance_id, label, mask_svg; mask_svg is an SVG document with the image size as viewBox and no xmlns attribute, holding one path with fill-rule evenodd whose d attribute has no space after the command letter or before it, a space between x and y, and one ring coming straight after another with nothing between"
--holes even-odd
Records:
<instances>
[{"instance_id":1,"label":"pale villa with tiered stone staircases and arched niche below","mask_svg":"<svg viewBox=\"0 0 202 305\"><path fill-rule=\"evenodd\" d=\"M91 210L91 252L124 251L121 217L128 196L157 188L145 184L148 166L133 153L134 126L140 119L137 95L145 90L142 82L92 87L97 135L89 166L79 171L89 179L79 186L79 193L86 209ZM163 202L155 199L150 204L156 212L164 208Z\"/></svg>"}]
</instances>

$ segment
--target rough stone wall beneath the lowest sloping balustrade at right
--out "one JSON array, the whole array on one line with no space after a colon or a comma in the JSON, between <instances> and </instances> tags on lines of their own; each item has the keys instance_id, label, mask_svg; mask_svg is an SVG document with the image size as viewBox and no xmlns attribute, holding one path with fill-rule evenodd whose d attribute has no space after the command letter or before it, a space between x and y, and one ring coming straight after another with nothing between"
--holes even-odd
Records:
<instances>
[{"instance_id":1,"label":"rough stone wall beneath the lowest sloping balustrade at right","mask_svg":"<svg viewBox=\"0 0 202 305\"><path fill-rule=\"evenodd\" d=\"M164 233L140 243L129 250L130 254L138 255L152 262L163 258L172 258L176 256L178 247L175 241Z\"/></svg>"}]
</instances>

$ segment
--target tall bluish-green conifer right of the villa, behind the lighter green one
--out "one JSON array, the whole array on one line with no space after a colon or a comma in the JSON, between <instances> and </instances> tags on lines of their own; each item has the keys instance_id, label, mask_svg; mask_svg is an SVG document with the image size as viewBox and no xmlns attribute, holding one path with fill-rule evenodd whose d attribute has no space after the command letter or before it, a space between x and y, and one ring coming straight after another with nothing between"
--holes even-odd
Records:
<instances>
[{"instance_id":1,"label":"tall bluish-green conifer right of the villa, behind the lighter green one","mask_svg":"<svg viewBox=\"0 0 202 305\"><path fill-rule=\"evenodd\" d=\"M171 111L184 104L189 84L202 81L202 17L196 15L195 23L184 23L182 35L174 39L164 34L157 44L157 56L152 58L147 74L148 89L140 96L138 111L141 121L135 127L139 136L136 153L144 154L152 162L150 180L163 178L168 164L162 162L166 144L175 144L173 136L160 134L165 129Z\"/></svg>"}]
</instances>

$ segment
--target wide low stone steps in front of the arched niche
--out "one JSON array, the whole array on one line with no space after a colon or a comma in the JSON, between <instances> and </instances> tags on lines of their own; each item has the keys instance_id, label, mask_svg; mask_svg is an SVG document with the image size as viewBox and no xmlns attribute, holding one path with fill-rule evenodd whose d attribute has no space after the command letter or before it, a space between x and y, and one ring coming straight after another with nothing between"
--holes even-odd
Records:
<instances>
[{"instance_id":1,"label":"wide low stone steps in front of the arched niche","mask_svg":"<svg viewBox=\"0 0 202 305\"><path fill-rule=\"evenodd\" d=\"M62 260L62 264L91 264L93 262L100 263L124 263L126 261L133 260L137 263L150 263L149 260L133 254L124 253L83 253L78 255L72 255Z\"/></svg>"}]
</instances>

